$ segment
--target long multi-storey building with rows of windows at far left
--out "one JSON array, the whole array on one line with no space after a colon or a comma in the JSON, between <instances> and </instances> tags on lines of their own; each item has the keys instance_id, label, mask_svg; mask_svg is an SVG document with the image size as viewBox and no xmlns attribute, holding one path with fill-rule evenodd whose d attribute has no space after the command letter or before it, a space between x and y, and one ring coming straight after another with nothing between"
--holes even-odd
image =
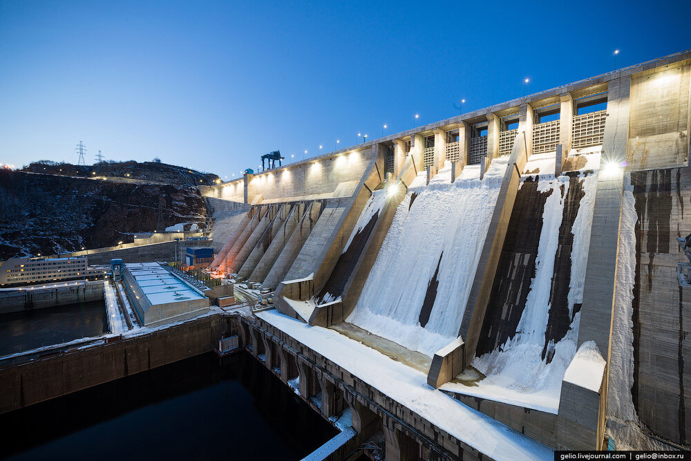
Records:
<instances>
[{"instance_id":1,"label":"long multi-storey building with rows of windows at far left","mask_svg":"<svg viewBox=\"0 0 691 461\"><path fill-rule=\"evenodd\" d=\"M0 266L0 285L100 279L109 269L107 265L88 265L86 256L10 258Z\"/></svg>"}]
</instances>

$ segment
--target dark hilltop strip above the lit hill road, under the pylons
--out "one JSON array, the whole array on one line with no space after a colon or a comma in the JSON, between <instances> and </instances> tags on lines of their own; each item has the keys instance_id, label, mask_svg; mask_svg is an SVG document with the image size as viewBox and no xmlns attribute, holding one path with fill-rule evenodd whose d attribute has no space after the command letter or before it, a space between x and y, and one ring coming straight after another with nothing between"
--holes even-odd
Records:
<instances>
[{"instance_id":1,"label":"dark hilltop strip above the lit hill road, under the pylons","mask_svg":"<svg viewBox=\"0 0 691 461\"><path fill-rule=\"evenodd\" d=\"M140 163L134 160L129 162L100 162L88 166L41 160L30 163L21 171L78 178L106 177L108 179L119 178L123 181L164 182L176 185L213 185L218 180L218 176L211 173L202 173L167 163Z\"/></svg>"}]
</instances>

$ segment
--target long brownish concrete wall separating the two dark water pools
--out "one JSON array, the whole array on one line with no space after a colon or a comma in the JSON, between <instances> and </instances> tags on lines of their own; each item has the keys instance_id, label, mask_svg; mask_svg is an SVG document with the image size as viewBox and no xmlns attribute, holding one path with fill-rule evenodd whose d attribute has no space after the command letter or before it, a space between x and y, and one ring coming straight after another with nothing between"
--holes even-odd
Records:
<instances>
[{"instance_id":1,"label":"long brownish concrete wall separating the two dark water pools","mask_svg":"<svg viewBox=\"0 0 691 461\"><path fill-rule=\"evenodd\" d=\"M108 344L0 367L0 413L210 352L238 335L236 317L200 317Z\"/></svg>"}]
</instances>

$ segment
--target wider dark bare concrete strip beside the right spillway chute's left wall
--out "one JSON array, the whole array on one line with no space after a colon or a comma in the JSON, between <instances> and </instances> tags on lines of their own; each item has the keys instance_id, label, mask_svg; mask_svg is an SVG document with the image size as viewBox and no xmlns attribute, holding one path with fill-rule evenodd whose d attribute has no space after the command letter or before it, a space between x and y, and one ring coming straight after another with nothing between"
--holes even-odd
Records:
<instances>
[{"instance_id":1,"label":"wider dark bare concrete strip beside the right spillway chute's left wall","mask_svg":"<svg viewBox=\"0 0 691 461\"><path fill-rule=\"evenodd\" d=\"M487 304L477 355L491 352L515 336L535 276L542 212L552 191L539 192L538 180L526 178L509 219L492 292Z\"/></svg>"}]
</instances>

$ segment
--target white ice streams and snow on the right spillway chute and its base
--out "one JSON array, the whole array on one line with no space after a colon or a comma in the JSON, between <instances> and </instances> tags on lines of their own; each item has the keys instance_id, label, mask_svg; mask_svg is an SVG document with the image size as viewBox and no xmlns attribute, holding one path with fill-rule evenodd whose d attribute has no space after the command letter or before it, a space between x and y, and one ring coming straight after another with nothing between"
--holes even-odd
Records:
<instances>
[{"instance_id":1,"label":"white ice streams and snow on the right spillway chute and its base","mask_svg":"<svg viewBox=\"0 0 691 461\"><path fill-rule=\"evenodd\" d=\"M589 169L598 162L599 154L593 154L593 156L597 158L588 159ZM551 160L550 157L552 157ZM576 355L580 312L575 315L566 336L556 344L551 342L550 348L553 348L554 355L548 364L546 359L542 359L542 350L545 346L552 275L565 205L563 197L567 195L569 178L567 176L554 177L552 154L532 156L524 171L535 171L538 168L540 169L538 191L551 190L552 193L545 202L535 276L531 280L530 291L516 335L492 352L473 359L471 365L486 376L484 379L473 379L477 377L468 370L461 377L473 379L472 386L454 382L444 384L441 388L556 414L559 408L562 379L571 359ZM564 188L563 196L560 191L562 187ZM583 301L596 187L595 174L589 174L583 178L585 195L580 199L578 216L571 229L574 234L574 244L571 250L571 280L568 294L570 315L574 312L574 304Z\"/></svg>"}]
</instances>

